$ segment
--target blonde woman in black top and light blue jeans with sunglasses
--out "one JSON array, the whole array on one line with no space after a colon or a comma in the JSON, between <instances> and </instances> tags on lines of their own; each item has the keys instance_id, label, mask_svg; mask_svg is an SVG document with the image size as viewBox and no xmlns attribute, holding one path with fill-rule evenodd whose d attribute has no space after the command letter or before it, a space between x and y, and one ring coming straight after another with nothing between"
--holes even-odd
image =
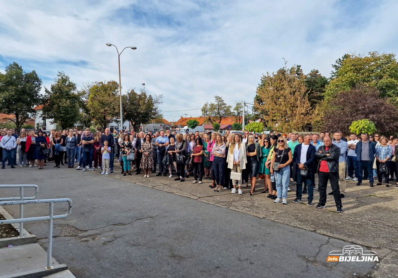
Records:
<instances>
[{"instance_id":1,"label":"blonde woman in black top and light blue jeans with sunglasses","mask_svg":"<svg viewBox=\"0 0 398 278\"><path fill-rule=\"evenodd\" d=\"M292 149L288 146L286 139L278 138L278 147L274 148L273 157L270 164L270 172L275 173L278 197L274 203L288 204L288 187L290 181L290 167L292 163ZM274 166L277 170L274 170Z\"/></svg>"}]
</instances>

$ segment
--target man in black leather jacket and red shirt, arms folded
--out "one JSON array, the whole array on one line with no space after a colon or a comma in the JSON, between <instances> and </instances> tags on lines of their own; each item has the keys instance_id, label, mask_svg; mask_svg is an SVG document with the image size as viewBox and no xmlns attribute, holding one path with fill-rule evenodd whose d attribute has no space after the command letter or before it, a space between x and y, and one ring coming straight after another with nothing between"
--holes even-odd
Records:
<instances>
[{"instance_id":1,"label":"man in black leather jacket and red shirt, arms folded","mask_svg":"<svg viewBox=\"0 0 398 278\"><path fill-rule=\"evenodd\" d=\"M330 181L333 190L334 202L336 203L337 212L343 212L341 205L341 195L339 188L339 156L340 148L332 144L329 136L323 138L324 145L321 146L315 157L319 159L317 167L319 180L319 203L316 208L324 208L326 205L326 186Z\"/></svg>"}]
</instances>

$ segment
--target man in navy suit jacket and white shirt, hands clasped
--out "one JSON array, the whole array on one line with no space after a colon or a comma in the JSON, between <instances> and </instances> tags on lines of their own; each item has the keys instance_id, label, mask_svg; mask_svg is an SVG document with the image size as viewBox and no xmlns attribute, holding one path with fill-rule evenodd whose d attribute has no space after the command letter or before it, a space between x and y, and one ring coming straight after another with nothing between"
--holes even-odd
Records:
<instances>
[{"instance_id":1,"label":"man in navy suit jacket and white shirt, hands clasped","mask_svg":"<svg viewBox=\"0 0 398 278\"><path fill-rule=\"evenodd\" d=\"M302 183L304 182L308 192L307 206L312 206L312 200L314 199L314 184L312 181L314 175L313 162L315 159L315 147L311 145L310 135L304 136L304 141L296 145L293 157L297 165L296 199L293 203L301 203ZM300 170L304 169L307 170L307 175L300 174Z\"/></svg>"}]
</instances>

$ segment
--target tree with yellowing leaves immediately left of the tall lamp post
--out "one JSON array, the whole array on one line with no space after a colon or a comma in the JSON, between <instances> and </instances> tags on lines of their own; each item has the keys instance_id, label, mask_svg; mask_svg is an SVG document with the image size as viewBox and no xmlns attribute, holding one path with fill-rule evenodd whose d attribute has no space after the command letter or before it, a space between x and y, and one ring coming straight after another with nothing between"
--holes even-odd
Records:
<instances>
[{"instance_id":1,"label":"tree with yellowing leaves immediately left of the tall lamp post","mask_svg":"<svg viewBox=\"0 0 398 278\"><path fill-rule=\"evenodd\" d=\"M102 130L120 115L118 89L118 83L113 80L106 83L95 82L89 88L88 114ZM85 111L83 113L86 114Z\"/></svg>"}]
</instances>

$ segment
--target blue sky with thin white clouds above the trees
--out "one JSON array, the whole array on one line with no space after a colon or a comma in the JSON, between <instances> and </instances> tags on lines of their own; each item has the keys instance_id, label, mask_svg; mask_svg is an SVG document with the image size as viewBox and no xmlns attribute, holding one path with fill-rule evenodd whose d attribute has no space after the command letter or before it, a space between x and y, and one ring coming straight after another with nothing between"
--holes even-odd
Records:
<instances>
[{"instance_id":1,"label":"blue sky with thin white clouds above the trees","mask_svg":"<svg viewBox=\"0 0 398 278\"><path fill-rule=\"evenodd\" d=\"M345 53L397 53L397 0L0 0L0 71L17 62L49 88L63 71L82 88L163 95L164 118L199 117L206 102L253 102L284 66L329 77ZM251 109L251 108L249 108Z\"/></svg>"}]
</instances>

